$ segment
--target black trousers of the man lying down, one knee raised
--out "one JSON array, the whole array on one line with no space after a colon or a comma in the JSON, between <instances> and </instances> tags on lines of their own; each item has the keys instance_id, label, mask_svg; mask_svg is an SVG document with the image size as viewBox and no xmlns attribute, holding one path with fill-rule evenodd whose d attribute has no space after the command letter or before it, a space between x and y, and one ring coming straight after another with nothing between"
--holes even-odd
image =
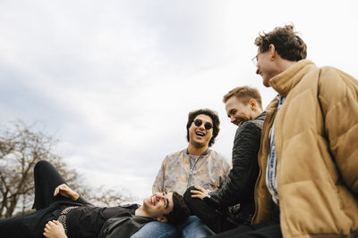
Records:
<instances>
[{"instance_id":1,"label":"black trousers of the man lying down, one knee raised","mask_svg":"<svg viewBox=\"0 0 358 238\"><path fill-rule=\"evenodd\" d=\"M34 168L35 212L0 220L0 237L6 238L43 238L45 225L50 220L57 219L61 211L71 206L72 201L57 195L55 187L64 184L64 178L46 160L39 161Z\"/></svg>"}]
</instances>

